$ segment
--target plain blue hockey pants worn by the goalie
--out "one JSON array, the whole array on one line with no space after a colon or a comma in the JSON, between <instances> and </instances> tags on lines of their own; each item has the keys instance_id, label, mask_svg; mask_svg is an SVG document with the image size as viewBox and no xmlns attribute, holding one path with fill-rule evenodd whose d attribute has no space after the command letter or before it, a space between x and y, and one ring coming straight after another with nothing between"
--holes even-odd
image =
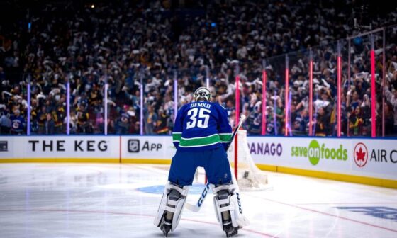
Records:
<instances>
[{"instance_id":1,"label":"plain blue hockey pants worn by the goalie","mask_svg":"<svg viewBox=\"0 0 397 238\"><path fill-rule=\"evenodd\" d=\"M230 164L224 147L194 152L180 152L172 157L168 180L179 186L191 185L198 166L206 170L209 183L222 185L230 183Z\"/></svg>"}]
</instances>

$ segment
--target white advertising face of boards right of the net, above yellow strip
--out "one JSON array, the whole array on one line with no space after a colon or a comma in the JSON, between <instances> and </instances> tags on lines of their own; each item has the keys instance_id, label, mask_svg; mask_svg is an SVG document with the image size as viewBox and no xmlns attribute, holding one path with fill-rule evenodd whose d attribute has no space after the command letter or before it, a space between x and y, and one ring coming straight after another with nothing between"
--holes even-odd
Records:
<instances>
[{"instance_id":1,"label":"white advertising face of boards right of the net, above yellow strip","mask_svg":"<svg viewBox=\"0 0 397 238\"><path fill-rule=\"evenodd\" d=\"M250 150L255 151L250 155L257 164L397 179L397 140L248 137L248 143ZM282 148L280 154L270 153L272 149L265 153L267 150L259 147L272 143Z\"/></svg>"}]
</instances>

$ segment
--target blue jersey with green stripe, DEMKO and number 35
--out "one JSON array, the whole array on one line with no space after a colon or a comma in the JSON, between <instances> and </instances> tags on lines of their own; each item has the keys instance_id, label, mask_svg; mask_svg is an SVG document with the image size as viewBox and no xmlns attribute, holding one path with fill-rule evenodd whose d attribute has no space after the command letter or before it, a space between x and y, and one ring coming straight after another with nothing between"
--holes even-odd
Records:
<instances>
[{"instance_id":1,"label":"blue jersey with green stripe, DEMKO and number 35","mask_svg":"<svg viewBox=\"0 0 397 238\"><path fill-rule=\"evenodd\" d=\"M182 106L172 132L172 142L181 152L227 148L232 137L228 112L218 103L199 101Z\"/></svg>"}]
</instances>

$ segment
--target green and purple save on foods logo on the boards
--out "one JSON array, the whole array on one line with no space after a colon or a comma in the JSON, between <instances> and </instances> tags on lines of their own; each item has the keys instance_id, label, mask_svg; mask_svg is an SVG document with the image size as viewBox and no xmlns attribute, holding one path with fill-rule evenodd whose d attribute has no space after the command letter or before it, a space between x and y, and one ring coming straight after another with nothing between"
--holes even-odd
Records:
<instances>
[{"instance_id":1,"label":"green and purple save on foods logo on the boards","mask_svg":"<svg viewBox=\"0 0 397 238\"><path fill-rule=\"evenodd\" d=\"M347 149L340 145L339 148L320 145L317 140L312 140L308 147L291 147L292 157L308 157L311 164L316 165L320 159L347 160Z\"/></svg>"}]
</instances>

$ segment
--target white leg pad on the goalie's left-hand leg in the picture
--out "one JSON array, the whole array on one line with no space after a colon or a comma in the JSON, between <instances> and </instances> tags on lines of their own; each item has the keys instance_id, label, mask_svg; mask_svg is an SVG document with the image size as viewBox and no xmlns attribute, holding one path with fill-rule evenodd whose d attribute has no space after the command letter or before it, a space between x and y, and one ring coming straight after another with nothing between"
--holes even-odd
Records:
<instances>
[{"instance_id":1,"label":"white leg pad on the goalie's left-hand leg in the picture","mask_svg":"<svg viewBox=\"0 0 397 238\"><path fill-rule=\"evenodd\" d=\"M157 210L155 221L153 222L155 226L160 227L164 220L164 213L168 211L174 214L172 217L172 231L177 228L179 220L181 220L181 213L186 202L186 196L189 193L189 187L190 186L183 186L181 188L167 181L159 209ZM170 198L170 193L172 192L172 190L179 193L179 198L177 198L177 200L174 200L174 198Z\"/></svg>"}]
</instances>

